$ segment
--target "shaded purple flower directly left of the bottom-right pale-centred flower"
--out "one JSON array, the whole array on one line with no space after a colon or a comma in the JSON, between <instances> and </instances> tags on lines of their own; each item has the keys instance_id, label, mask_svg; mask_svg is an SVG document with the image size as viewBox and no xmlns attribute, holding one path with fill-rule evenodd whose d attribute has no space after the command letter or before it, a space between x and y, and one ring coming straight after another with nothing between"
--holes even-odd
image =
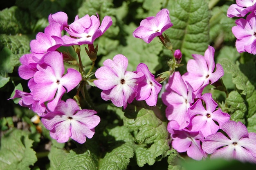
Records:
<instances>
[{"instance_id":1,"label":"shaded purple flower directly left of the bottom-right pale-centred flower","mask_svg":"<svg viewBox=\"0 0 256 170\"><path fill-rule=\"evenodd\" d=\"M179 130L180 127L176 121L170 121L167 130L171 133L172 147L178 152L186 152L187 155L195 160L201 160L206 157L206 153L202 150L201 143L204 136L200 131L190 132L186 129Z\"/></svg>"}]
</instances>

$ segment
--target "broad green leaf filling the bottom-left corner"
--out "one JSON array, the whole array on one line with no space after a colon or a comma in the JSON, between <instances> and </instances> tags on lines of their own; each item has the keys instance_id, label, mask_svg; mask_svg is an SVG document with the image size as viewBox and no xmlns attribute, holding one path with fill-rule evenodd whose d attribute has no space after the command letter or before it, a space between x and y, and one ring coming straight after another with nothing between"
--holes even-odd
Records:
<instances>
[{"instance_id":1,"label":"broad green leaf filling the bottom-left corner","mask_svg":"<svg viewBox=\"0 0 256 170\"><path fill-rule=\"evenodd\" d=\"M32 143L25 131L13 129L5 134L1 139L0 169L29 170L37 161Z\"/></svg>"}]
</instances>

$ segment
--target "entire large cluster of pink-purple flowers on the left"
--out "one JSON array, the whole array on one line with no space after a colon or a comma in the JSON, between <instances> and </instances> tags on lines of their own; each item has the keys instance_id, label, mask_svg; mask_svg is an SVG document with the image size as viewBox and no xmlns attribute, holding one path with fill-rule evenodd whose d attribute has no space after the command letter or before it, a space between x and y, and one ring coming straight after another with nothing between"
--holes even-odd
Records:
<instances>
[{"instance_id":1,"label":"entire large cluster of pink-purple flowers on the left","mask_svg":"<svg viewBox=\"0 0 256 170\"><path fill-rule=\"evenodd\" d=\"M68 68L65 73L64 54L58 48L92 44L112 25L112 20L106 16L100 26L99 16L86 15L80 19L76 16L70 25L67 19L64 12L50 14L45 31L31 40L31 53L20 58L22 65L18 69L20 77L29 80L30 92L16 90L13 98L21 98L21 106L29 107L41 116L42 123L58 142L66 142L71 137L84 143L86 137L94 135L100 118L94 110L82 110L79 101L61 100L65 93L81 83L84 75L82 69L78 72L73 68ZM62 36L63 31L70 36Z\"/></svg>"}]
</instances>

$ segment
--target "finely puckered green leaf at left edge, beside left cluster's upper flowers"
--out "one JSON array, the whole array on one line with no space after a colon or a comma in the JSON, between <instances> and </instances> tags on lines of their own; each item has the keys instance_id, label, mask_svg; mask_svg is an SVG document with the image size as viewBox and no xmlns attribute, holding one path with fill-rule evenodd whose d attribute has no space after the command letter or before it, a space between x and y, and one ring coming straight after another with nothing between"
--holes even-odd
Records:
<instances>
[{"instance_id":1,"label":"finely puckered green leaf at left edge, beside left cluster's upper flowers","mask_svg":"<svg viewBox=\"0 0 256 170\"><path fill-rule=\"evenodd\" d=\"M7 47L14 54L13 65L20 64L20 57L30 52L31 37L27 35L8 36L0 34L0 49Z\"/></svg>"}]
</instances>

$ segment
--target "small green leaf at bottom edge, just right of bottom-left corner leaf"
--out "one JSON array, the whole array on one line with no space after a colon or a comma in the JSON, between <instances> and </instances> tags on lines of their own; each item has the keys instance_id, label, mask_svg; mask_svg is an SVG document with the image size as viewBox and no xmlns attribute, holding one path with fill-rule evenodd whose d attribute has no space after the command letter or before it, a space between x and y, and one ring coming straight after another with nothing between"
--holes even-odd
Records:
<instances>
[{"instance_id":1,"label":"small green leaf at bottom edge, just right of bottom-left corner leaf","mask_svg":"<svg viewBox=\"0 0 256 170\"><path fill-rule=\"evenodd\" d=\"M58 170L58 167L63 163L67 154L65 150L52 146L48 154L48 159L50 160L49 170Z\"/></svg>"}]
</instances>

